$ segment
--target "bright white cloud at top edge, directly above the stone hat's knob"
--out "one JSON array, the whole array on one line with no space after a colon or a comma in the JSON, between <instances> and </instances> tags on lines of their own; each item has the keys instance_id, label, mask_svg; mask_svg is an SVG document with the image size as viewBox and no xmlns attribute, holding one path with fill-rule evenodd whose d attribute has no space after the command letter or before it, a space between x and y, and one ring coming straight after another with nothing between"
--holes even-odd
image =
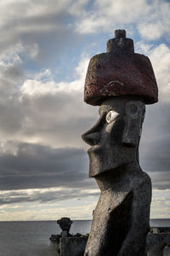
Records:
<instances>
[{"instance_id":1,"label":"bright white cloud at top edge, directly above the stone hat's knob","mask_svg":"<svg viewBox=\"0 0 170 256\"><path fill-rule=\"evenodd\" d=\"M93 11L82 15L77 23L76 31L80 33L111 32L116 26L126 26L132 22L138 23L142 17L149 15L150 5L147 1L99 1L94 2ZM125 19L126 17L126 19Z\"/></svg>"}]
</instances>

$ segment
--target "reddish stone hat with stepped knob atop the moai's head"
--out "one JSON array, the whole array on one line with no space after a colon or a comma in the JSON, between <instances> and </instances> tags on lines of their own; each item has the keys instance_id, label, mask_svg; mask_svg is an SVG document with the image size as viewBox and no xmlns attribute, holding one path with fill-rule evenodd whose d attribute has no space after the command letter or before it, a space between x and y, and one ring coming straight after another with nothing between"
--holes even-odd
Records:
<instances>
[{"instance_id":1,"label":"reddish stone hat with stepped knob atop the moai's head","mask_svg":"<svg viewBox=\"0 0 170 256\"><path fill-rule=\"evenodd\" d=\"M107 53L94 55L88 65L84 101L96 106L109 96L141 96L145 104L158 101L150 59L134 53L125 30L116 30L115 38L107 42Z\"/></svg>"}]
</instances>

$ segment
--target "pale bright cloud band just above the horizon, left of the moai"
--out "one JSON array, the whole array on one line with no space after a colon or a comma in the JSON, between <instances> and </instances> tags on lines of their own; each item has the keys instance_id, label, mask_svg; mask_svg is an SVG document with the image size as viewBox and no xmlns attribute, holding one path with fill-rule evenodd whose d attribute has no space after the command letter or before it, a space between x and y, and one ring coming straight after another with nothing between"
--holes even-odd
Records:
<instances>
[{"instance_id":1,"label":"pale bright cloud band just above the horizon, left of the moai","mask_svg":"<svg viewBox=\"0 0 170 256\"><path fill-rule=\"evenodd\" d=\"M65 194L66 193L66 194ZM74 195L77 197L74 199ZM6 199L7 204L0 207L1 221L6 220L56 220L63 216L71 219L91 219L92 212L98 200L98 189L20 189L2 191L1 198ZM59 195L65 201L59 201ZM66 199L66 195L72 195L73 199ZM17 203L25 198L22 204ZM48 197L49 201L45 201ZM40 200L43 199L40 203ZM13 201L16 201L15 203ZM27 202L26 202L27 200ZM8 204L11 201L11 204ZM29 202L30 201L30 202ZM32 202L31 202L32 201ZM35 202L34 202L35 201Z\"/></svg>"}]
</instances>

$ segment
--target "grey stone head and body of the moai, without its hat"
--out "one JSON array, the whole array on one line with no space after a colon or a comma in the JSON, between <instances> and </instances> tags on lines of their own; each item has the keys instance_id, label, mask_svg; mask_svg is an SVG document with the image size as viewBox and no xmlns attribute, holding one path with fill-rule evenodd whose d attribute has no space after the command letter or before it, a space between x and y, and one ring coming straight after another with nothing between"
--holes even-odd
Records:
<instances>
[{"instance_id":1,"label":"grey stone head and body of the moai, without its hat","mask_svg":"<svg viewBox=\"0 0 170 256\"><path fill-rule=\"evenodd\" d=\"M108 122L108 113L118 113ZM144 256L150 227L150 177L139 166L144 102L111 97L99 108L99 121L82 138L92 147L89 176L101 190L84 255Z\"/></svg>"}]
</instances>

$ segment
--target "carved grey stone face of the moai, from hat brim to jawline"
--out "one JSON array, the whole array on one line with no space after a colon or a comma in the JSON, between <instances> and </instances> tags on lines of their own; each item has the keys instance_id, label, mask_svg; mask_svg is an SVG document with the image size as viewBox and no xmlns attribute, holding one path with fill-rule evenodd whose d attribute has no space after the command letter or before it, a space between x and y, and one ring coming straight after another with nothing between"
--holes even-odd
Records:
<instances>
[{"instance_id":1,"label":"carved grey stone face of the moai, from hat brim to jawline","mask_svg":"<svg viewBox=\"0 0 170 256\"><path fill-rule=\"evenodd\" d=\"M82 135L91 146L90 177L138 160L144 110L142 99L133 96L113 96L102 103L98 122Z\"/></svg>"}]
</instances>

